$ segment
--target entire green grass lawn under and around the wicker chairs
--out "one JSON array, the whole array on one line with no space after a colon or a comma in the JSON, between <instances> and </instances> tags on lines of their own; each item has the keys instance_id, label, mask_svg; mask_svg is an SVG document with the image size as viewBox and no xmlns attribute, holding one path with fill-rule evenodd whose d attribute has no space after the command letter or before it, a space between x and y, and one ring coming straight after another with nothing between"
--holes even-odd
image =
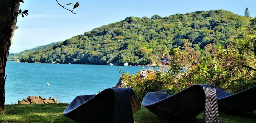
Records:
<instances>
[{"instance_id":1,"label":"entire green grass lawn under and around the wicker chairs","mask_svg":"<svg viewBox=\"0 0 256 123\"><path fill-rule=\"evenodd\" d=\"M64 117L62 112L68 104L28 104L28 105L6 105L6 114L0 115L0 122L74 122ZM136 123L162 123L163 119L158 119L153 113L145 107L136 112L134 115ZM182 121L167 121L182 122ZM183 122L192 122L185 120ZM203 113L196 117L195 122L203 122ZM243 113L239 115L228 115L220 113L220 122L230 123L256 123L256 111L252 116L251 113Z\"/></svg>"}]
</instances>

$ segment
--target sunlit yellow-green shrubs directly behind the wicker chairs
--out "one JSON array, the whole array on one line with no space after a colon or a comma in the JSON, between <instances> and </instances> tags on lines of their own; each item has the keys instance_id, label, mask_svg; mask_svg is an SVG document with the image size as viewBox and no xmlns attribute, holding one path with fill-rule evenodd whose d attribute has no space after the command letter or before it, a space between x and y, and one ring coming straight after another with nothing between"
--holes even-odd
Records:
<instances>
[{"instance_id":1,"label":"sunlit yellow-green shrubs directly behind the wicker chairs","mask_svg":"<svg viewBox=\"0 0 256 123\"><path fill-rule=\"evenodd\" d=\"M235 39L227 48L214 49L208 44L204 48L205 55L197 55L191 43L184 40L182 47L161 52L162 56L169 55L172 60L169 66L157 67L144 79L140 72L135 75L122 72L121 86L133 87L140 98L156 91L174 94L194 84L213 84L237 93L256 85L256 71L244 67L256 68L255 40L255 35L248 35L244 39ZM184 67L186 70L182 70Z\"/></svg>"}]
</instances>

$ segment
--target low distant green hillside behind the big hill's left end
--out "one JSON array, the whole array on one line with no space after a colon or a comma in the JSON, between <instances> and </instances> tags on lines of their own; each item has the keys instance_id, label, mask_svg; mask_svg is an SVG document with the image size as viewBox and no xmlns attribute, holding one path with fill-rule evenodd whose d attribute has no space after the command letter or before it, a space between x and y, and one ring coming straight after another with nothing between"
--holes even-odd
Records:
<instances>
[{"instance_id":1,"label":"low distant green hillside behind the big hill's left end","mask_svg":"<svg viewBox=\"0 0 256 123\"><path fill-rule=\"evenodd\" d=\"M32 49L26 49L26 50L24 50L22 52L19 52L19 53L10 53L7 60L8 61L20 61L22 56L27 56L29 53L35 52L35 51L38 51L38 50L44 50L47 47L50 47L50 46L55 45L57 43L61 43L61 42L54 42L54 43L50 43L48 45L38 46L38 47L35 47L35 48L32 48Z\"/></svg>"}]
</instances>

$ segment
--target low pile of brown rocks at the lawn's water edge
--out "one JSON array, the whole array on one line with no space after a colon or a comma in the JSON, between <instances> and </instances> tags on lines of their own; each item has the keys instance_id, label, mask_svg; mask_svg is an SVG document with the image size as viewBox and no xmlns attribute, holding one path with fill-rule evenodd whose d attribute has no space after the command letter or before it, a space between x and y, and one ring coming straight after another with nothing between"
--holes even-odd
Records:
<instances>
[{"instance_id":1,"label":"low pile of brown rocks at the lawn's water edge","mask_svg":"<svg viewBox=\"0 0 256 123\"><path fill-rule=\"evenodd\" d=\"M28 96L23 100L18 100L18 104L49 104L49 103L58 103L54 98L49 97L49 99L43 98L42 96Z\"/></svg>"}]
</instances>

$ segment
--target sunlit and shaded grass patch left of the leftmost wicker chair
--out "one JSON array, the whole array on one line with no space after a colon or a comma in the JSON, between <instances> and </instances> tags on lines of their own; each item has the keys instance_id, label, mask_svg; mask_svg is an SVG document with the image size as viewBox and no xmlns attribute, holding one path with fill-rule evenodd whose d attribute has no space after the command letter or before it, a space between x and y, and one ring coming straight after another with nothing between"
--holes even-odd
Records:
<instances>
[{"instance_id":1,"label":"sunlit and shaded grass patch left of the leftmost wicker chair","mask_svg":"<svg viewBox=\"0 0 256 123\"><path fill-rule=\"evenodd\" d=\"M62 112L68 104L6 105L0 122L74 122Z\"/></svg>"}]
</instances>

